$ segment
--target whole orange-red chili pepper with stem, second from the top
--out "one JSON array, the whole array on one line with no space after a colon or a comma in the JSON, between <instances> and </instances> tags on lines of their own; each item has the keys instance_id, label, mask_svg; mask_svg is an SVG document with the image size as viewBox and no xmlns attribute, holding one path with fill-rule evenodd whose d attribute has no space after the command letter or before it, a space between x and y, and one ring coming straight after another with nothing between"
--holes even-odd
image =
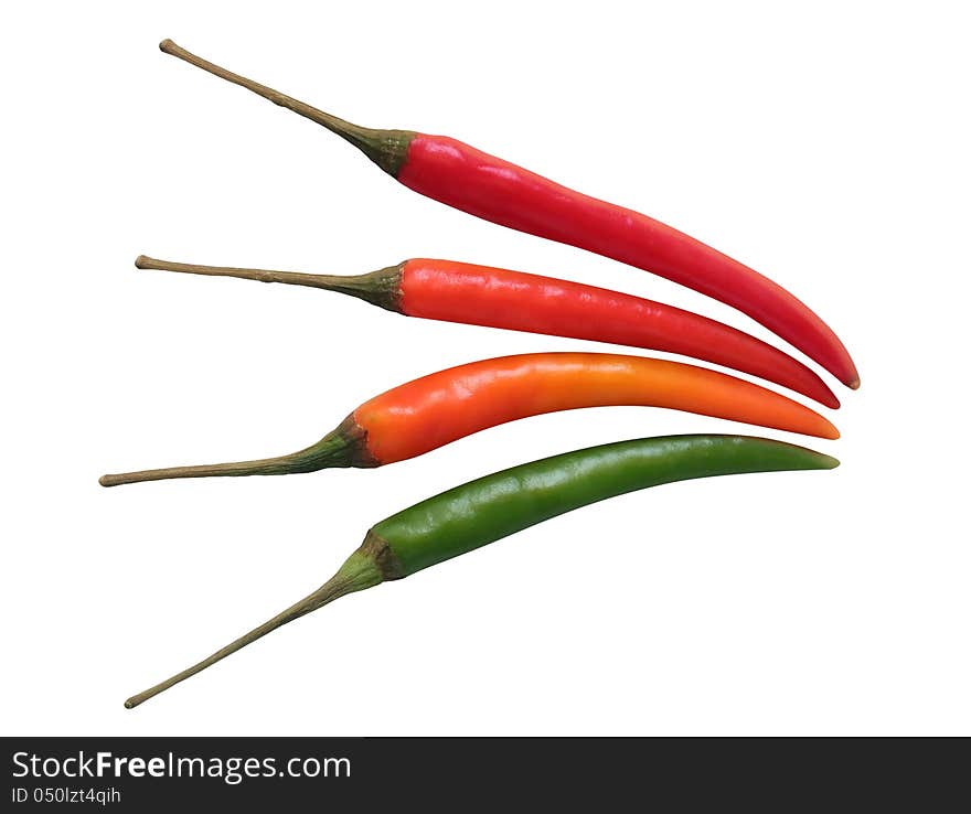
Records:
<instances>
[{"instance_id":1,"label":"whole orange-red chili pepper with stem, second from the top","mask_svg":"<svg viewBox=\"0 0 971 814\"><path fill-rule=\"evenodd\" d=\"M776 382L828 407L840 406L815 373L767 342L680 308L579 282L424 258L343 277L196 266L145 255L135 265L322 288L407 317L679 353Z\"/></svg>"}]
</instances>

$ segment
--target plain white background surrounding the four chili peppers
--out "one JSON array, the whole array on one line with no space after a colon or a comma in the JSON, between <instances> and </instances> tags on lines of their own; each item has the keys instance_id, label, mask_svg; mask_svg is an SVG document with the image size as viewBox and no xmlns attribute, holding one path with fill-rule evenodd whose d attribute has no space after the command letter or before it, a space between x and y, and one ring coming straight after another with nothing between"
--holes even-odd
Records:
<instances>
[{"instance_id":1,"label":"plain white background surrounding the four chili peppers","mask_svg":"<svg viewBox=\"0 0 971 814\"><path fill-rule=\"evenodd\" d=\"M961 3L7 4L7 735L971 733L969 50ZM743 431L533 418L381 470L97 485L288 452L395 384L593 343L136 271L410 256L719 303L477 221L181 45L361 124L447 133L652 214L840 333L834 472L612 500L343 599L134 711L370 525L517 462ZM775 341L775 340L773 340ZM791 350L791 349L790 349ZM787 440L805 439L771 433Z\"/></svg>"}]
</instances>

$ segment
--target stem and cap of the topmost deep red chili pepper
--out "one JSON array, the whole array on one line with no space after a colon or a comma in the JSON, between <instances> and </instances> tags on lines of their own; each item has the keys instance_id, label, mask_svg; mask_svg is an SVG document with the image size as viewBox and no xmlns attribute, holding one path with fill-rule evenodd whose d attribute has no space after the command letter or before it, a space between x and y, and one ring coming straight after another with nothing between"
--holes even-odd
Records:
<instances>
[{"instance_id":1,"label":"stem and cap of the topmost deep red chili pepper","mask_svg":"<svg viewBox=\"0 0 971 814\"><path fill-rule=\"evenodd\" d=\"M352 143L382 170L390 172L392 175L397 175L398 169L405 161L408 144L414 138L414 133L407 130L380 130L345 121L299 99L281 94L279 90L274 90L271 87L260 85L258 82L247 79L245 76L239 76L239 74L234 74L232 71L203 60L180 47L171 40L162 40L159 43L159 49L167 54L178 56L190 65L195 65L195 67L211 73L213 76L218 76L221 79L232 82L234 85L239 85L239 87L245 87L257 96L274 103L274 105L279 105L311 121L316 121L318 125L326 127L331 132Z\"/></svg>"}]
</instances>

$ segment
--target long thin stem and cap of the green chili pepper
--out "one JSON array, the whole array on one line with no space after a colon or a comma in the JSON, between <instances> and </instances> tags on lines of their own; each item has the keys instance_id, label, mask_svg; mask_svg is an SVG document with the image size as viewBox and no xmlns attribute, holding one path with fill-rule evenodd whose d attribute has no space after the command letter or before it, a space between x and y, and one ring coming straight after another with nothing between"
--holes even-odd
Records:
<instances>
[{"instance_id":1,"label":"long thin stem and cap of the green chili pepper","mask_svg":"<svg viewBox=\"0 0 971 814\"><path fill-rule=\"evenodd\" d=\"M335 599L345 597L349 593L365 590L366 588L372 588L384 581L385 576L383 575L381 567L377 565L373 556L363 549L364 546L354 551L344 565L341 566L340 570L316 591L308 595L299 602L291 604L287 610L278 613L273 619L254 628L245 635L239 636L239 639L227 644L225 647L217 650L207 658L203 658L198 664L193 664L191 667L183 670L181 673L177 673L171 678L167 678L160 684L156 684L153 687L149 687L138 695L132 695L125 701L125 708L132 709L134 707L137 707L139 704L147 701L159 693L163 693L169 687L172 687L180 682L184 682L196 673L201 673L206 667L211 667L216 662L222 661L237 650L242 650L247 644L252 644L257 639L262 639L267 633L271 633L277 628L281 628L288 622L292 622L295 619L299 619L311 611L316 611L318 608L323 608L323 606L333 602Z\"/></svg>"}]
</instances>

